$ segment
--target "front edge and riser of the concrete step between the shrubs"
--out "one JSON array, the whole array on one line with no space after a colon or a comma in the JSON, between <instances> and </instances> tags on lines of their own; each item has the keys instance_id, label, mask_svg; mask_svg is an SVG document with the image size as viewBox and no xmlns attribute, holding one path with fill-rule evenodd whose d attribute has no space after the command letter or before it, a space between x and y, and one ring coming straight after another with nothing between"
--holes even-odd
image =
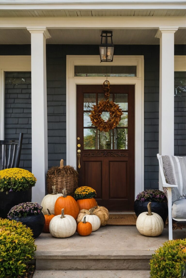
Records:
<instances>
[{"instance_id":1,"label":"front edge and riser of the concrete step between the shrubs","mask_svg":"<svg viewBox=\"0 0 186 278\"><path fill-rule=\"evenodd\" d=\"M149 270L152 250L36 251L36 270Z\"/></svg>"}]
</instances>

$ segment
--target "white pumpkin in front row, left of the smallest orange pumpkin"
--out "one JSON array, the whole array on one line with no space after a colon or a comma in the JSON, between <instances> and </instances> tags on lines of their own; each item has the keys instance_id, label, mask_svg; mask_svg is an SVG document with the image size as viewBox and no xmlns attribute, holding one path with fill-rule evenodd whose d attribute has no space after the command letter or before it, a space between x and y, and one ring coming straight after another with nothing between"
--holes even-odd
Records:
<instances>
[{"instance_id":1,"label":"white pumpkin in front row, left of the smallest orange pumpkin","mask_svg":"<svg viewBox=\"0 0 186 278\"><path fill-rule=\"evenodd\" d=\"M74 217L68 214L64 215L64 209L62 209L61 215L56 215L51 219L49 225L49 231L53 237L71 237L76 228L77 224Z\"/></svg>"}]
</instances>

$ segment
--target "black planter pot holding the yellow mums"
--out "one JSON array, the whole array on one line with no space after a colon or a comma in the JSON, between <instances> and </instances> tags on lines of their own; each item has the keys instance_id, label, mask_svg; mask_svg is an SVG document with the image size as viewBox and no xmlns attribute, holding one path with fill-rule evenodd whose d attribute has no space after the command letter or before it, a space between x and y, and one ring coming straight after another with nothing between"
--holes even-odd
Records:
<instances>
[{"instance_id":1,"label":"black planter pot holding the yellow mums","mask_svg":"<svg viewBox=\"0 0 186 278\"><path fill-rule=\"evenodd\" d=\"M10 209L15 205L31 202L32 188L26 191L0 192L0 217L7 218Z\"/></svg>"}]
</instances>

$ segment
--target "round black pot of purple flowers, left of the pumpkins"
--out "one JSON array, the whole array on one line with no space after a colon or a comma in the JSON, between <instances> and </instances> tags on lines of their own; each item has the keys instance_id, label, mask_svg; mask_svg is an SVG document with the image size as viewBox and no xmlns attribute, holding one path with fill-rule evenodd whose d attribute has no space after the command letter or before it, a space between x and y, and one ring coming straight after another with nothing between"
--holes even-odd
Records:
<instances>
[{"instance_id":1,"label":"round black pot of purple flowers, left of the pumpkins","mask_svg":"<svg viewBox=\"0 0 186 278\"><path fill-rule=\"evenodd\" d=\"M17 222L21 222L33 232L33 237L36 239L42 232L44 224L45 224L45 216L41 212L37 215L31 215L26 217L12 217L11 220L16 220Z\"/></svg>"}]
</instances>

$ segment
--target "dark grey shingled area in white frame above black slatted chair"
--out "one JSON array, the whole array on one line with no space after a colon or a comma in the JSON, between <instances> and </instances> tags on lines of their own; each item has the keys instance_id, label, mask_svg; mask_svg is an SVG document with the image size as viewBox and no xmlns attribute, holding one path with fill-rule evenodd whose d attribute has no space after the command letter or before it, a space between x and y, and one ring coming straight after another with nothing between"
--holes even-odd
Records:
<instances>
[{"instance_id":1,"label":"dark grey shingled area in white frame above black slatted chair","mask_svg":"<svg viewBox=\"0 0 186 278\"><path fill-rule=\"evenodd\" d=\"M27 84L19 84L21 83L21 78L25 78ZM11 84L12 81L14 84ZM30 72L6 72L5 73L5 130L4 131L5 131L5 139L16 139L19 138L20 132L24 133L19 167L31 171L32 161L31 161L31 73Z\"/></svg>"}]
</instances>

